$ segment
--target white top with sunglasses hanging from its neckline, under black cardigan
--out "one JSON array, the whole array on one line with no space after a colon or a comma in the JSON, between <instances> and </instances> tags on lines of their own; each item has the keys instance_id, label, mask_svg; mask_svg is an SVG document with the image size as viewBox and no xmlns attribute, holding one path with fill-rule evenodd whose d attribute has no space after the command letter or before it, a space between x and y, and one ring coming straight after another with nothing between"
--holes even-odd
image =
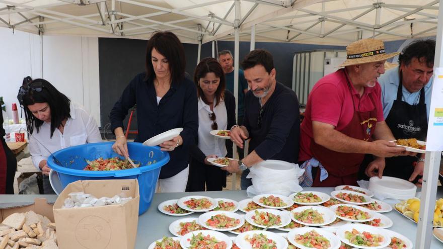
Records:
<instances>
[{"instance_id":1,"label":"white top with sunglasses hanging from its neckline, under black cardigan","mask_svg":"<svg viewBox=\"0 0 443 249\"><path fill-rule=\"evenodd\" d=\"M216 102L214 100L214 106ZM212 121L209 119L211 113L209 105L205 104L201 98L198 98L198 148L207 156L216 154L224 157L228 153L226 150L225 139L211 135ZM225 101L214 107L215 122L220 130L226 130L228 126L228 114L226 112Z\"/></svg>"}]
</instances>

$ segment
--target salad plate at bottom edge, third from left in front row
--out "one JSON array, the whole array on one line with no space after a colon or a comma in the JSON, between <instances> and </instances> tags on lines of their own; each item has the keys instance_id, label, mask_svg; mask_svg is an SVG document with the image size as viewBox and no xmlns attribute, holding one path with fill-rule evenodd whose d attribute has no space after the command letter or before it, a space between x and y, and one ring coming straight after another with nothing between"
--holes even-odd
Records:
<instances>
[{"instance_id":1,"label":"salad plate at bottom edge, third from left in front row","mask_svg":"<svg viewBox=\"0 0 443 249\"><path fill-rule=\"evenodd\" d=\"M286 249L287 241L270 231L247 231L239 234L235 243L240 249Z\"/></svg>"}]
</instances>

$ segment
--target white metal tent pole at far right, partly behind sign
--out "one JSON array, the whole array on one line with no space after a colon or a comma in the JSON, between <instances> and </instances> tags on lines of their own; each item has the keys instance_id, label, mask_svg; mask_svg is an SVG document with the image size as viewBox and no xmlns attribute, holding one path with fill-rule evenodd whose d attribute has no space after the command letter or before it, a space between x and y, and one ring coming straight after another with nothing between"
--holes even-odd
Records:
<instances>
[{"instance_id":1,"label":"white metal tent pole at far right, partly behind sign","mask_svg":"<svg viewBox=\"0 0 443 249\"><path fill-rule=\"evenodd\" d=\"M438 5L438 28L436 35L435 68L443 66L443 0L440 0ZM434 74L435 77L435 74ZM434 80L435 82L435 80ZM432 91L436 91L435 83L432 85ZM437 100L433 100L437 101ZM432 107L432 99L431 99ZM432 111L430 112L432 114ZM430 115L431 115L430 114ZM431 124L428 124L428 127ZM429 131L429 129L428 129ZM430 134L427 134L429 137ZM441 151L426 151L424 172L423 172L423 186L421 188L420 201L420 215L418 220L417 235L415 238L415 248L427 249L430 248L432 240L432 221L434 217L435 196L437 193L438 172L440 168Z\"/></svg>"}]
</instances>

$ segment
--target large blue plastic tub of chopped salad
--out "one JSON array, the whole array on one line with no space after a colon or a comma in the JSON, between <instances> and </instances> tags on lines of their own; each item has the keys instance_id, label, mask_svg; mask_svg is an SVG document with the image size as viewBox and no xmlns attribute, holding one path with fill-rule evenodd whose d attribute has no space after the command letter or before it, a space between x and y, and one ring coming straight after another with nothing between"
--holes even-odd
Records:
<instances>
[{"instance_id":1,"label":"large blue plastic tub of chopped salad","mask_svg":"<svg viewBox=\"0 0 443 249\"><path fill-rule=\"evenodd\" d=\"M57 172L61 185L65 188L69 183L78 180L105 179L137 179L140 204L138 214L144 213L151 205L154 197L160 169L169 161L169 153L161 151L160 147L151 147L141 143L128 143L129 156L133 161L140 162L140 167L121 171L84 171L85 159L95 160L99 157L110 158L119 156L112 150L112 142L88 143L58 150L54 156L62 165L55 163L49 156L49 168ZM120 156L121 157L121 156ZM123 158L123 157L121 157ZM155 162L154 162L155 161ZM150 165L149 162L151 162Z\"/></svg>"}]
</instances>

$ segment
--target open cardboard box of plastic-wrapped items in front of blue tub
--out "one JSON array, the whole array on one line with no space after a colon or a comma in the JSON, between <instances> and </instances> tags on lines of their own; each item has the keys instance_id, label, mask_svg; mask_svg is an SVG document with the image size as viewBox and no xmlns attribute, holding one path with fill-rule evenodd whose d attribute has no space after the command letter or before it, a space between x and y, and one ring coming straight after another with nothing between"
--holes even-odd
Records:
<instances>
[{"instance_id":1,"label":"open cardboard box of plastic-wrapped items in front of blue tub","mask_svg":"<svg viewBox=\"0 0 443 249\"><path fill-rule=\"evenodd\" d=\"M97 198L111 198L123 192L133 199L123 205L61 208L69 193L82 191ZM136 179L70 183L58 196L53 207L58 247L60 249L134 248L139 199Z\"/></svg>"}]
</instances>

